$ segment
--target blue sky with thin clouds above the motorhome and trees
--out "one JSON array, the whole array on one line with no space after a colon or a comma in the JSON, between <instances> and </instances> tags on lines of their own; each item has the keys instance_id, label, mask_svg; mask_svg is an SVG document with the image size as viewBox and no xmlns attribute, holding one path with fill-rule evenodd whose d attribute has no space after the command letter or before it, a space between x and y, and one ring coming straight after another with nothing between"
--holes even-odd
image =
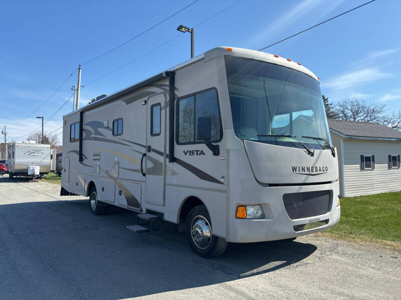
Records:
<instances>
[{"instance_id":1,"label":"blue sky with thin clouds above the motorhome and trees","mask_svg":"<svg viewBox=\"0 0 401 300\"><path fill-rule=\"evenodd\" d=\"M40 125L36 116L48 119L68 99L71 86L77 83L76 73L38 111L21 121L79 63L130 39L192 1L2 1L0 126L8 126L9 139L25 139L24 134ZM85 64L81 106L189 58L189 34L176 31L177 25L194 26L237 1L198 0L140 37ZM366 1L242 0L195 27L195 55L215 46L260 49ZM384 103L389 112L399 110L399 11L401 1L376 0L264 51L311 69L320 77L322 93L334 103L356 96ZM45 131L61 127L63 114L71 110L72 99L45 124Z\"/></svg>"}]
</instances>

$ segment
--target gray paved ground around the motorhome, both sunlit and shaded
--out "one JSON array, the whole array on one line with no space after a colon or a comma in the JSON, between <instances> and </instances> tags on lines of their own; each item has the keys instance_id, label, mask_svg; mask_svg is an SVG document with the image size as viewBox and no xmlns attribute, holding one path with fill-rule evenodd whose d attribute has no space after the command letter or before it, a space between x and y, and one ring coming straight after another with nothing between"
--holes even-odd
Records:
<instances>
[{"instance_id":1,"label":"gray paved ground around the motorhome, both sunlit and shaded","mask_svg":"<svg viewBox=\"0 0 401 300\"><path fill-rule=\"evenodd\" d=\"M198 257L175 226L135 234L60 186L0 176L0 299L400 299L401 253L304 236Z\"/></svg>"}]
</instances>

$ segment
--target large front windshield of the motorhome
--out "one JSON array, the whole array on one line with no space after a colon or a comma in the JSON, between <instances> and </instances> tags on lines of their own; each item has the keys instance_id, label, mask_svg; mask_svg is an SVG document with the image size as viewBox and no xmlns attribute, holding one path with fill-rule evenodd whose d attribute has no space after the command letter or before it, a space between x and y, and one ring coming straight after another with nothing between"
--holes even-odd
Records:
<instances>
[{"instance_id":1,"label":"large front windshield of the motorhome","mask_svg":"<svg viewBox=\"0 0 401 300\"><path fill-rule=\"evenodd\" d=\"M330 149L317 80L259 60L227 55L225 61L238 138L290 147L302 147L301 141L312 149Z\"/></svg>"}]
</instances>

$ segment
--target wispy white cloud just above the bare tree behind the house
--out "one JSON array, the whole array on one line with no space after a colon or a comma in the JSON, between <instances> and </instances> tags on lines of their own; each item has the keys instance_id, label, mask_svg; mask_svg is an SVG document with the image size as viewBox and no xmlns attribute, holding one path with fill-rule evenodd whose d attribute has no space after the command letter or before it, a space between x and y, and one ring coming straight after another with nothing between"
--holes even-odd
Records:
<instances>
[{"instance_id":1,"label":"wispy white cloud just above the bare tree behind the house","mask_svg":"<svg viewBox=\"0 0 401 300\"><path fill-rule=\"evenodd\" d=\"M377 67L364 68L357 71L344 73L339 76L332 77L326 82L322 83L322 87L332 89L343 89L352 87L361 83L370 81L376 81L392 76L390 73L385 73L379 70Z\"/></svg>"}]
</instances>

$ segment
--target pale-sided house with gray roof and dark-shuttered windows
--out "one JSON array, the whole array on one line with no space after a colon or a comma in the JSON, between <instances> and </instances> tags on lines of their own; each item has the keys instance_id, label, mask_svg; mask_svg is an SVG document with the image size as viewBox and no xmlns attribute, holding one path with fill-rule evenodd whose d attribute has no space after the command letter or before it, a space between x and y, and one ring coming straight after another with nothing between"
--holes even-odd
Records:
<instances>
[{"instance_id":1,"label":"pale-sided house with gray roof and dark-shuttered windows","mask_svg":"<svg viewBox=\"0 0 401 300\"><path fill-rule=\"evenodd\" d=\"M328 119L328 124L341 197L401 190L401 131L370 122Z\"/></svg>"}]
</instances>

